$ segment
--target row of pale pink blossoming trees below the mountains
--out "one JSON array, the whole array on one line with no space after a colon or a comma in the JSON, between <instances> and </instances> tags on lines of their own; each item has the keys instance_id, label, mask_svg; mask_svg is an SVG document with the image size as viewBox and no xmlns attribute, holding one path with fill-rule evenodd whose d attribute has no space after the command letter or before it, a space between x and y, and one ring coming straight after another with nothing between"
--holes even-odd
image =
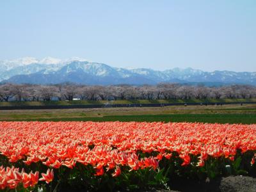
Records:
<instances>
[{"instance_id":1,"label":"row of pale pink blossoming trees below the mountains","mask_svg":"<svg viewBox=\"0 0 256 192\"><path fill-rule=\"evenodd\" d=\"M161 83L156 86L85 86L79 84L2 84L0 101L39 100L125 100L125 99L237 99L256 98L252 85L207 87L184 84Z\"/></svg>"}]
</instances>

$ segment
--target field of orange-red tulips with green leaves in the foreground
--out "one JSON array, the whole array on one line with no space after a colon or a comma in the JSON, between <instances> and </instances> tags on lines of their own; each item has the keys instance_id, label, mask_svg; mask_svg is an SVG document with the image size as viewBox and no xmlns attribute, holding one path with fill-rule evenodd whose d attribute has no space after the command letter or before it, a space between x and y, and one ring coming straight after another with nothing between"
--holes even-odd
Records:
<instances>
[{"instance_id":1,"label":"field of orange-red tulips with green leaves in the foreground","mask_svg":"<svg viewBox=\"0 0 256 192\"><path fill-rule=\"evenodd\" d=\"M0 190L172 189L256 175L256 124L0 122Z\"/></svg>"}]
</instances>

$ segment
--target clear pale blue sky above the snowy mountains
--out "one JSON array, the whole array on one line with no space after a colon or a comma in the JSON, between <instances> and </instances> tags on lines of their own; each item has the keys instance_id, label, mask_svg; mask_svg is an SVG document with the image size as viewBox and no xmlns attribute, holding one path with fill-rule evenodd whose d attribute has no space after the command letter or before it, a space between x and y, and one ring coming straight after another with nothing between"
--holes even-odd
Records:
<instances>
[{"instance_id":1,"label":"clear pale blue sky above the snowy mountains","mask_svg":"<svg viewBox=\"0 0 256 192\"><path fill-rule=\"evenodd\" d=\"M256 71L256 1L0 1L0 60Z\"/></svg>"}]
</instances>

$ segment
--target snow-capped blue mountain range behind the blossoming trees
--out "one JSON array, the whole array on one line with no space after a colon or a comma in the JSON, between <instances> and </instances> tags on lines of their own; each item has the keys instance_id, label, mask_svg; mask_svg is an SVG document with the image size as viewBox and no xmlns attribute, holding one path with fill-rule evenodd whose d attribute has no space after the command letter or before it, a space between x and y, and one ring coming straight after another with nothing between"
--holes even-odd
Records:
<instances>
[{"instance_id":1,"label":"snow-capped blue mountain range behind the blossoming trees","mask_svg":"<svg viewBox=\"0 0 256 192\"><path fill-rule=\"evenodd\" d=\"M59 60L56 58L19 58L0 61L1 83L56 84L157 84L157 83L204 83L253 84L256 72L232 72L216 70L205 72L193 68L152 70L150 68L116 68L104 63L82 58Z\"/></svg>"}]
</instances>

